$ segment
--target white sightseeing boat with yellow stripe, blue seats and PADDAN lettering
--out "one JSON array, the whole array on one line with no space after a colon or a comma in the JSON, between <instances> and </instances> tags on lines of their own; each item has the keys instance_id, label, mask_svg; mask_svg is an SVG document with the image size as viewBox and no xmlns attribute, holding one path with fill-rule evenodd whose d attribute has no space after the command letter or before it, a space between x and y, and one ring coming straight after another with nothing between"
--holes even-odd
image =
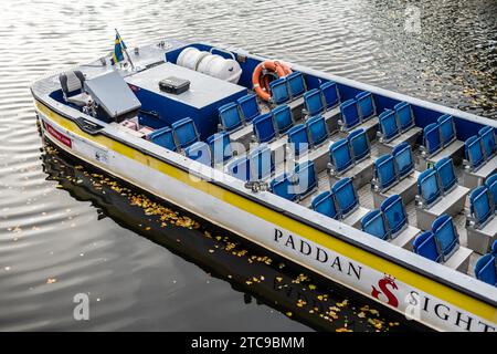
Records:
<instances>
[{"instance_id":1,"label":"white sightseeing boat with yellow stripe, blue seats and PADDAN lettering","mask_svg":"<svg viewBox=\"0 0 497 354\"><path fill-rule=\"evenodd\" d=\"M67 154L437 331L497 330L497 123L163 40L31 87Z\"/></svg>"}]
</instances>

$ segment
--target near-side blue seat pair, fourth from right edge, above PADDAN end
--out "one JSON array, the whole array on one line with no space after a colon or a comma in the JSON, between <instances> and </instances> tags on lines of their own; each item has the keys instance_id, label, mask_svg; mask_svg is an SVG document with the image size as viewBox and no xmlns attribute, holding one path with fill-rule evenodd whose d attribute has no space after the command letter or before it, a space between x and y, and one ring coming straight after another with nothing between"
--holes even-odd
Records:
<instances>
[{"instance_id":1,"label":"near-side blue seat pair, fourth from right edge, above PADDAN end","mask_svg":"<svg viewBox=\"0 0 497 354\"><path fill-rule=\"evenodd\" d=\"M359 207L359 197L349 177L336 181L330 190L314 197L310 208L334 219L342 219Z\"/></svg>"}]
</instances>

